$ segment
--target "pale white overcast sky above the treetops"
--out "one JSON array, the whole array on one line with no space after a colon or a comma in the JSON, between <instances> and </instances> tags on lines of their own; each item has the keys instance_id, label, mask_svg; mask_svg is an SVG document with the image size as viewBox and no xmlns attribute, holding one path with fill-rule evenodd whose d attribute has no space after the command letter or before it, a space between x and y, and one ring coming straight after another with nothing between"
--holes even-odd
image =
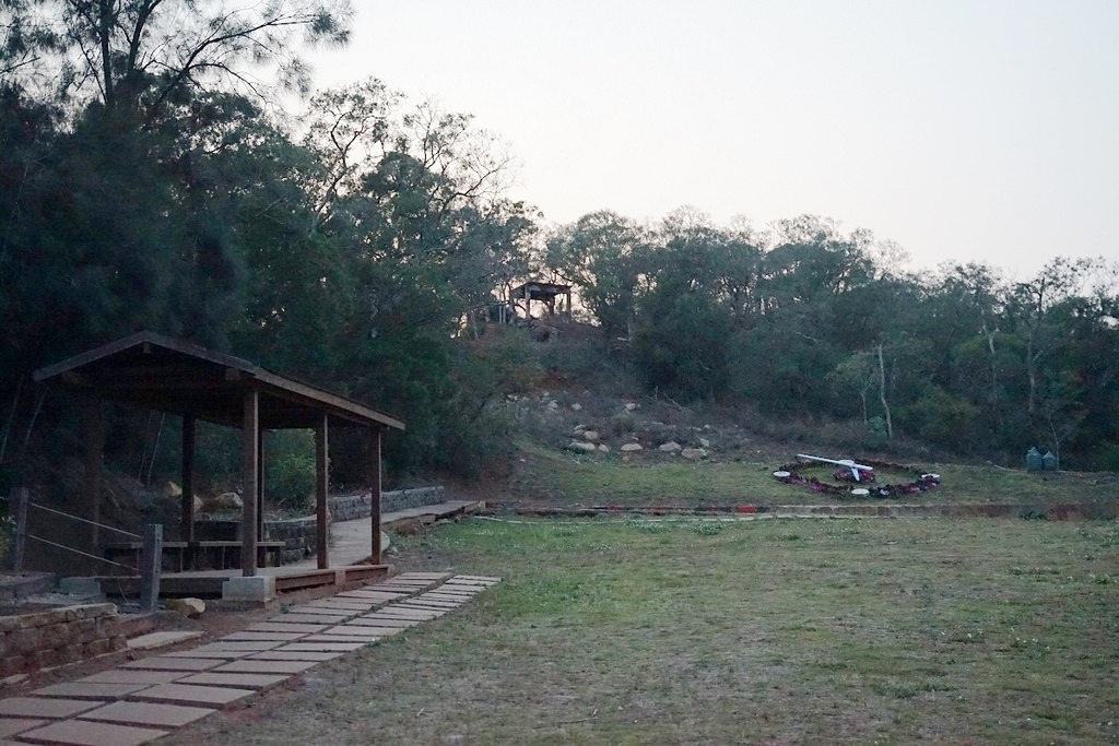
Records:
<instances>
[{"instance_id":1,"label":"pale white overcast sky above the treetops","mask_svg":"<svg viewBox=\"0 0 1119 746\"><path fill-rule=\"evenodd\" d=\"M355 0L320 87L471 113L566 223L814 214L915 268L1119 259L1119 0Z\"/></svg>"}]
</instances>

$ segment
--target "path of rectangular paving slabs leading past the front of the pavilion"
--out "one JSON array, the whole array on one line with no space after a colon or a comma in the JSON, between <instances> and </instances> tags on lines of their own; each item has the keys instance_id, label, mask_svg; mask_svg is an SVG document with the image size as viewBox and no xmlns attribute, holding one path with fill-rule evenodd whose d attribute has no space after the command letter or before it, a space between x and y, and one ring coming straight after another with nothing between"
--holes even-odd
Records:
<instances>
[{"instance_id":1,"label":"path of rectangular paving slabs leading past the front of the pavilion","mask_svg":"<svg viewBox=\"0 0 1119 746\"><path fill-rule=\"evenodd\" d=\"M467 603L500 578L404 573L319 598L214 642L0 699L0 746L133 746Z\"/></svg>"}]
</instances>

